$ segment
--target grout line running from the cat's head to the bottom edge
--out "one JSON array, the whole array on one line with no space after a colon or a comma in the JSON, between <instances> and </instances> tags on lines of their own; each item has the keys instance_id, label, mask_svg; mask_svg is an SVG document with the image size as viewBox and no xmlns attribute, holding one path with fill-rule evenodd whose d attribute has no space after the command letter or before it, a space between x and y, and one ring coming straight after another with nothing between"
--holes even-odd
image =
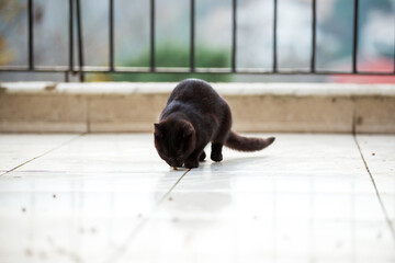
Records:
<instances>
[{"instance_id":1,"label":"grout line running from the cat's head to the bottom edge","mask_svg":"<svg viewBox=\"0 0 395 263\"><path fill-rule=\"evenodd\" d=\"M133 239L142 231L143 227L148 222L148 220L151 218L151 215L155 213L155 210L160 206L160 204L170 195L171 191L176 188L176 186L181 182L181 180L185 176L188 172L190 172L191 169L185 171L178 180L177 182L163 194L163 196L154 205L150 213L146 217L144 217L139 224L132 230L132 232L128 235L128 237L125 239L125 241L111 254L103 263L113 263L116 262L120 256L125 252L127 245L133 241Z\"/></svg>"}]
</instances>

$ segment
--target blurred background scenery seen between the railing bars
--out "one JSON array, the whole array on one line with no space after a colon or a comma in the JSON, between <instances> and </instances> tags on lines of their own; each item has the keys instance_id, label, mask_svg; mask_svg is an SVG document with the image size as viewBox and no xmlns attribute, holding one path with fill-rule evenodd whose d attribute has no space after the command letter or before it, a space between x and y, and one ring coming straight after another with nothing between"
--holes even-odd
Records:
<instances>
[{"instance_id":1,"label":"blurred background scenery seen between the railing bars","mask_svg":"<svg viewBox=\"0 0 395 263\"><path fill-rule=\"evenodd\" d=\"M34 1L34 62L68 65L68 0ZM0 0L0 66L27 65L27 1ZM394 72L395 0L360 0L358 70ZM109 0L81 0L84 65L109 66ZM316 69L352 68L353 0L317 0ZM77 37L75 37L76 39ZM156 1L156 66L189 67L190 1ZM76 44L76 43L75 43ZM77 45L75 46L75 61ZM312 0L278 1L279 70L308 70ZM114 0L115 66L149 67L149 1ZM195 1L195 66L230 67L232 0ZM273 1L237 1L238 69L271 70ZM395 82L395 76L87 73L87 81ZM1 81L64 81L64 73L0 72ZM71 81L77 81L77 77Z\"/></svg>"}]
</instances>

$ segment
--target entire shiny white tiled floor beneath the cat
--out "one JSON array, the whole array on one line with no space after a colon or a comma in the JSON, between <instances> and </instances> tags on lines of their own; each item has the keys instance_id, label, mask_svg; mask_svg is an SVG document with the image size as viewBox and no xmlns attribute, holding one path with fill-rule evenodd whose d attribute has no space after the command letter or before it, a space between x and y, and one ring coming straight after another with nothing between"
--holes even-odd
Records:
<instances>
[{"instance_id":1,"label":"entire shiny white tiled floor beneath the cat","mask_svg":"<svg viewBox=\"0 0 395 263\"><path fill-rule=\"evenodd\" d=\"M147 134L0 135L1 263L395 262L394 220L395 136L172 171Z\"/></svg>"}]
</instances>

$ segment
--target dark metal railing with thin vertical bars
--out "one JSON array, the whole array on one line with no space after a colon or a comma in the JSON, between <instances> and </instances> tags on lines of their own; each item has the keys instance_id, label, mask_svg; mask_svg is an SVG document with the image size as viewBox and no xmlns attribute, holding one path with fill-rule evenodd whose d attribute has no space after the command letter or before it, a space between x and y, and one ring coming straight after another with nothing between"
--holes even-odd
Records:
<instances>
[{"instance_id":1,"label":"dark metal railing with thin vertical bars","mask_svg":"<svg viewBox=\"0 0 395 263\"><path fill-rule=\"evenodd\" d=\"M76 7L75 7L76 5ZM69 0L69 25L68 25L68 66L36 66L34 64L34 23L33 9L34 1L27 0L27 66L1 66L0 71L16 72L64 72L65 80L69 76L79 75L79 80L84 81L84 73L240 73L240 75L374 75L394 76L395 75L395 52L394 70L392 72L373 72L358 70L358 24L359 24L359 0L353 0L353 26L352 26L352 69L351 71L328 71L317 70L316 68L316 32L317 32L317 9L316 0L312 0L312 50L308 70L279 70L278 67L278 0L273 0L273 46L272 46L272 68L271 70L241 69L237 68L237 0L232 0L232 54L229 68L199 68L195 67L195 0L190 0L190 62L189 67L157 67L155 59L155 0L149 2L149 67L117 67L114 65L114 0L109 0L109 67L84 66L83 62L83 41L81 25L81 0ZM77 23L77 47L78 65L75 64L74 49L74 21Z\"/></svg>"}]
</instances>

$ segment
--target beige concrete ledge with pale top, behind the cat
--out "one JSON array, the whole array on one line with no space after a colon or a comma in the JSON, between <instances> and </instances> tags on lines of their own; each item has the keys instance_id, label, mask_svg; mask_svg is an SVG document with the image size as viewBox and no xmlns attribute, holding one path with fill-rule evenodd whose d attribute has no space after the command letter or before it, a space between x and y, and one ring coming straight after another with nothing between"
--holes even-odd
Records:
<instances>
[{"instance_id":1,"label":"beige concrete ledge with pale top, behind the cat","mask_svg":"<svg viewBox=\"0 0 395 263\"><path fill-rule=\"evenodd\" d=\"M177 83L0 83L0 132L151 132ZM395 133L394 84L213 83L238 132Z\"/></svg>"}]
</instances>

